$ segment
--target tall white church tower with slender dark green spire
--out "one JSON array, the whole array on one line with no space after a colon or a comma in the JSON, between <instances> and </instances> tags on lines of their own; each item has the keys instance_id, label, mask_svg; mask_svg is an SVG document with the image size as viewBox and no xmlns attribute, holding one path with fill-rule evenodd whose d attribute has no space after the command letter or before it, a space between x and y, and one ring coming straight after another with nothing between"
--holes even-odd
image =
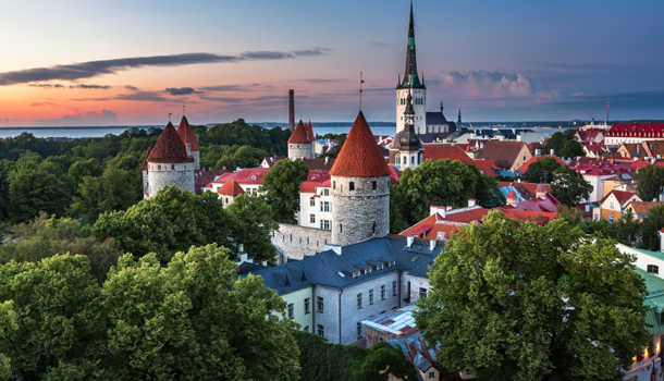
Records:
<instances>
[{"instance_id":1,"label":"tall white church tower with slender dark green spire","mask_svg":"<svg viewBox=\"0 0 664 381\"><path fill-rule=\"evenodd\" d=\"M396 133L404 126L404 111L406 111L408 94L413 96L415 110L414 130L416 134L427 133L427 86L425 79L420 82L417 73L417 58L415 54L415 23L413 21L413 1L410 1L410 23L408 25L408 46L406 48L406 70L404 81L398 79L396 86Z\"/></svg>"}]
</instances>

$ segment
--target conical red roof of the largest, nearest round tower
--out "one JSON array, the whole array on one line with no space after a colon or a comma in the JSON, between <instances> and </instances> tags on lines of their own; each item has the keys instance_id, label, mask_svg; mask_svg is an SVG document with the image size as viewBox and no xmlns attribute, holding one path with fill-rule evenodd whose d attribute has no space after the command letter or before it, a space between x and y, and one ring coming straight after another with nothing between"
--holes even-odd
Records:
<instances>
[{"instance_id":1,"label":"conical red roof of the largest, nearest round tower","mask_svg":"<svg viewBox=\"0 0 664 381\"><path fill-rule=\"evenodd\" d=\"M357 177L390 175L390 168L388 168L385 158L376 144L373 133L361 111L355 119L330 174Z\"/></svg>"}]
</instances>

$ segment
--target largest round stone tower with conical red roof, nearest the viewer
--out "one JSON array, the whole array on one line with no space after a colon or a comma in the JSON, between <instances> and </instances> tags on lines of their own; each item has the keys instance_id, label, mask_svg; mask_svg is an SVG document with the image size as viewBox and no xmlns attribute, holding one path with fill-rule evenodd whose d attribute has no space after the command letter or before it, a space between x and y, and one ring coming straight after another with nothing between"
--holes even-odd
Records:
<instances>
[{"instance_id":1,"label":"largest round stone tower with conical red roof, nearest the viewer","mask_svg":"<svg viewBox=\"0 0 664 381\"><path fill-rule=\"evenodd\" d=\"M334 167L332 244L353 245L390 232L390 169L359 112Z\"/></svg>"}]
</instances>

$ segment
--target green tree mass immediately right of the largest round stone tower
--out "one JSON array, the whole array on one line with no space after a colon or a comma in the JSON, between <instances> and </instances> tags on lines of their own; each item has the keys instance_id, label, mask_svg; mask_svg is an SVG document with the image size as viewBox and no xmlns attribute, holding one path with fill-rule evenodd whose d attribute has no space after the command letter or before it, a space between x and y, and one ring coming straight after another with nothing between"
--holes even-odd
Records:
<instances>
[{"instance_id":1,"label":"green tree mass immediately right of the largest round stone tower","mask_svg":"<svg viewBox=\"0 0 664 381\"><path fill-rule=\"evenodd\" d=\"M429 216L432 205L462 208L468 206L468 199L476 199L487 208L505 205L495 182L482 175L477 167L457 160L426 160L415 170L406 169L390 195L390 202L394 204L391 211L401 213L408 226Z\"/></svg>"}]
</instances>

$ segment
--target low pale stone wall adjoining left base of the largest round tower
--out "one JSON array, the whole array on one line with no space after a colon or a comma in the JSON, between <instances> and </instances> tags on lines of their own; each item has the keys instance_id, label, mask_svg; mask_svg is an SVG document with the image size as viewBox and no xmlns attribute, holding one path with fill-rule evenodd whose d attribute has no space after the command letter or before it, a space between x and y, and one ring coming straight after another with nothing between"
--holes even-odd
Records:
<instances>
[{"instance_id":1,"label":"low pale stone wall adjoining left base of the largest round tower","mask_svg":"<svg viewBox=\"0 0 664 381\"><path fill-rule=\"evenodd\" d=\"M272 232L272 243L287 259L299 260L305 256L313 256L331 242L332 232L329 230L280 223L279 231Z\"/></svg>"}]
</instances>

